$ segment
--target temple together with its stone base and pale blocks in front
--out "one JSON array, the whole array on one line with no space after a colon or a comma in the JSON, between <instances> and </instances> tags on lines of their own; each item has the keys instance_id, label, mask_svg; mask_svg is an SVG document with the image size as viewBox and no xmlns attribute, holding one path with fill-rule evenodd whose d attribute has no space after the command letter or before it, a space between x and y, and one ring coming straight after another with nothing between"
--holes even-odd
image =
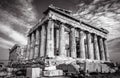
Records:
<instances>
[{"instance_id":1,"label":"temple together with its stone base and pale blocks in front","mask_svg":"<svg viewBox=\"0 0 120 78\"><path fill-rule=\"evenodd\" d=\"M72 64L77 71L83 69L88 73L110 71L105 64L110 63L107 30L87 24L73 17L69 10L52 5L43 14L28 32L26 58L28 61L45 58L44 69L38 67L44 76L71 71L69 66L61 67L61 64Z\"/></svg>"}]
</instances>

